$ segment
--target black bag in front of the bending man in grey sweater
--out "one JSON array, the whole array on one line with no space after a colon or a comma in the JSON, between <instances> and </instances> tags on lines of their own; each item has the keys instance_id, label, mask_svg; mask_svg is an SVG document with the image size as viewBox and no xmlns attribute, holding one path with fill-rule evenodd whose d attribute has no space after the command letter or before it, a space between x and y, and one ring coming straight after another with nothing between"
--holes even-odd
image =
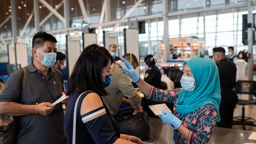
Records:
<instances>
[{"instance_id":1,"label":"black bag in front of the bending man in grey sweater","mask_svg":"<svg viewBox=\"0 0 256 144\"><path fill-rule=\"evenodd\" d=\"M119 116L117 123L121 134L132 135L141 140L150 138L150 124L147 113Z\"/></svg>"}]
</instances>

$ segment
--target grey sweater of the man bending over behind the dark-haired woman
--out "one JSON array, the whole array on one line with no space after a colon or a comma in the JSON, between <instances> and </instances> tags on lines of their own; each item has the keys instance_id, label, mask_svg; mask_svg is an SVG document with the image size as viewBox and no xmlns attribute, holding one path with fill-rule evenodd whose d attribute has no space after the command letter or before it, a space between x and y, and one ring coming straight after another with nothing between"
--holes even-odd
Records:
<instances>
[{"instance_id":1,"label":"grey sweater of the man bending over behind the dark-haired woman","mask_svg":"<svg viewBox=\"0 0 256 144\"><path fill-rule=\"evenodd\" d=\"M132 105L140 104L141 97L133 88L130 78L122 73L121 68L118 65L112 64L110 72L112 80L110 85L105 88L109 95L102 97L110 113L112 115L117 114L123 96L127 96Z\"/></svg>"}]
</instances>

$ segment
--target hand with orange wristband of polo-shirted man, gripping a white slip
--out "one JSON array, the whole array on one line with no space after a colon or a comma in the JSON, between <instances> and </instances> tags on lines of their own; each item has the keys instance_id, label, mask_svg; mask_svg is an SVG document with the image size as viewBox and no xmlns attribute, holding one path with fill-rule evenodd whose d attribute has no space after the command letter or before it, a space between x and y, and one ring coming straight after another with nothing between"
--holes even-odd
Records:
<instances>
[{"instance_id":1,"label":"hand with orange wristband of polo-shirted man, gripping a white slip","mask_svg":"<svg viewBox=\"0 0 256 144\"><path fill-rule=\"evenodd\" d=\"M36 106L36 113L44 116L48 116L52 113L55 106L52 106L52 103L43 102ZM52 107L51 107L52 106Z\"/></svg>"}]
</instances>

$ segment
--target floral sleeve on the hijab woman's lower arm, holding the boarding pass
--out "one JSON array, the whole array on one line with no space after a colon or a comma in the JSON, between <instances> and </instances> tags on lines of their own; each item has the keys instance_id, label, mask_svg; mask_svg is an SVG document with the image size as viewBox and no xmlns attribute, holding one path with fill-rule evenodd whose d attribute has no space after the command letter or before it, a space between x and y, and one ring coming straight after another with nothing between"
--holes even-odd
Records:
<instances>
[{"instance_id":1,"label":"floral sleeve on the hijab woman's lower arm, holding the boarding pass","mask_svg":"<svg viewBox=\"0 0 256 144\"><path fill-rule=\"evenodd\" d=\"M218 114L216 112L215 107L209 104L209 105L202 106L200 109L197 110L192 122L183 121L182 124L185 127L187 128L195 127L194 131L189 132L189 135L187 137L187 143L188 144L207 144L211 138L211 135L217 120L217 115Z\"/></svg>"}]
</instances>

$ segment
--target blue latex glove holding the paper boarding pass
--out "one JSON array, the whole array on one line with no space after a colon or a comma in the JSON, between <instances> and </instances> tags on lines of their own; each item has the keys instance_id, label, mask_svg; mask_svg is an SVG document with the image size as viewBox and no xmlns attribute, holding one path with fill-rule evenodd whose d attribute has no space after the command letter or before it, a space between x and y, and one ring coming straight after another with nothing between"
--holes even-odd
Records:
<instances>
[{"instance_id":1,"label":"blue latex glove holding the paper boarding pass","mask_svg":"<svg viewBox=\"0 0 256 144\"><path fill-rule=\"evenodd\" d=\"M177 129L182 124L182 120L177 118L175 115L173 115L171 112L167 110L161 110L164 114L159 115L159 117L162 119L162 121L165 124L171 124L174 129Z\"/></svg>"}]
</instances>

